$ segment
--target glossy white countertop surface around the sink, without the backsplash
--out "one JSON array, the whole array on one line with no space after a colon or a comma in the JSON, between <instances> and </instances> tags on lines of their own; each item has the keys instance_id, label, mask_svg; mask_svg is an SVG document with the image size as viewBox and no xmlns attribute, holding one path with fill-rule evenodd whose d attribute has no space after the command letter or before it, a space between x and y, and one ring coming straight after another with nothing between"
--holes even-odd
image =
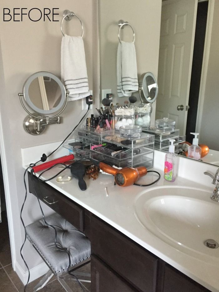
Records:
<instances>
[{"instance_id":1,"label":"glossy white countertop surface around the sink, without the backsplash","mask_svg":"<svg viewBox=\"0 0 219 292\"><path fill-rule=\"evenodd\" d=\"M58 171L60 171L60 168L58 169L58 167L55 167L45 173L43 178L48 179ZM56 179L52 179L48 184L190 278L212 291L219 291L218 265L215 266L215 264L203 262L201 259L197 259L197 257L185 254L171 245L166 244L154 234L150 233L150 231L142 226L135 217L135 200L140 194L147 190L158 186L187 186L200 188L200 185L194 182L191 183L191 181L183 178L177 178L174 183L166 182L162 177L161 171L160 174L161 179L159 182L150 187L139 187L134 185L119 187L114 185L113 176L101 173L95 181L85 178L87 184L86 191L81 191L79 189L76 179L72 179L64 184L58 183ZM65 170L65 175L70 175L69 169ZM157 178L157 175L150 173L141 178L138 182L148 184L155 180L155 178ZM107 188L108 196L105 187ZM209 184L206 191L209 192L211 190L212 185Z\"/></svg>"}]
</instances>

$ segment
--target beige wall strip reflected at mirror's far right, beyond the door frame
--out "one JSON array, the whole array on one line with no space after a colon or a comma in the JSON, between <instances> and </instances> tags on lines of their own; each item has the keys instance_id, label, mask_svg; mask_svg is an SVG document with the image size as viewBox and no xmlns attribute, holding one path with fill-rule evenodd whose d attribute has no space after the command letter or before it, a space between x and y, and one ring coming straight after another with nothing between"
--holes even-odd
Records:
<instances>
[{"instance_id":1,"label":"beige wall strip reflected at mirror's far right, beyond the door frame","mask_svg":"<svg viewBox=\"0 0 219 292\"><path fill-rule=\"evenodd\" d=\"M208 145L210 149L218 150L219 125L219 0L215 0L211 46L207 69L205 99L201 119L200 143Z\"/></svg>"}]
</instances>

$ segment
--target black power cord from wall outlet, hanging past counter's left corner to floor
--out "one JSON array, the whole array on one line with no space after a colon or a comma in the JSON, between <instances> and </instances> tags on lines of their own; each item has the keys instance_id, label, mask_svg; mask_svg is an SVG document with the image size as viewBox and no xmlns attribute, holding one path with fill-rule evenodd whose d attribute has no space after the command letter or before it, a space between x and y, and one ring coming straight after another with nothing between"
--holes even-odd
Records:
<instances>
[{"instance_id":1,"label":"black power cord from wall outlet, hanging past counter's left corner to floor","mask_svg":"<svg viewBox=\"0 0 219 292\"><path fill-rule=\"evenodd\" d=\"M48 156L46 155L46 154L43 154L42 155L42 157L41 157L41 159L39 160L39 161L37 161L36 163L31 163L29 166L28 166L28 168L26 168L25 169L25 171L24 171L24 175L23 175L23 181L24 181L24 187L25 187L25 197L24 197L24 201L23 201L23 204L22 204L22 207L21 207L21 212L20 212L20 219L21 219L21 222L22 222L22 225L23 225L23 228L24 228L24 234L25 234L25 236L24 236L24 242L23 242L23 244L22 244L22 246L21 246L21 249L20 249L20 255L21 255L21 258L23 259L23 262L24 262L24 264L25 264L25 266L27 267L27 269L28 269L28 280L27 280L27 283L25 284L25 286L24 286L24 292L26 292L26 287L27 287L27 285L28 285L28 283L29 283L29 280L30 280L30 270L29 270L29 268L28 268L28 265L27 265L27 263L26 263L26 261L25 261L25 259L24 259L24 257L23 257L23 254L22 254L22 249L23 249L23 246L24 246L24 244L25 244L25 242L26 242L26 239L27 239L27 232L26 232L26 227L25 227L25 224L24 224L24 222L23 222L23 218L22 218L22 211L23 211L23 207L24 207L24 204L25 204L25 202L26 202L26 199L27 199L27 184L26 184L26 181L25 181L25 175L26 175L26 173L27 173L27 171L28 171L28 169L29 168L33 168L34 166L36 166L36 164L38 164L40 161L42 161L42 162L45 162L46 160L47 160L47 158L49 157L49 156L51 156L56 150L58 150L59 149L59 147L69 138L69 136L74 132L74 130L79 126L79 124L81 123L81 121L84 119L84 117L86 116L86 114L88 113L88 111L89 111L89 109L90 109L90 104L91 104L91 102L89 102L89 104L88 104L88 109L87 109L87 111L86 111L86 113L84 114L84 116L80 119L80 121L79 121L79 123L74 127L74 129L68 134L68 136L62 141L62 143L55 149L55 150L53 150ZM64 169L63 169L64 170ZM38 202L39 202L39 200L38 200ZM40 205L40 204L39 204ZM41 209L41 206L40 206L40 209ZM68 269L68 273L69 273L69 269ZM72 274L71 274L72 275ZM75 276L74 276L75 277ZM76 278L76 277L75 277ZM77 279L77 278L76 278ZM79 283L80 284L80 283ZM81 286L81 284L80 284L80 286ZM83 287L81 286L81 288L83 289ZM84 289L83 289L83 291L84 291Z\"/></svg>"}]
</instances>

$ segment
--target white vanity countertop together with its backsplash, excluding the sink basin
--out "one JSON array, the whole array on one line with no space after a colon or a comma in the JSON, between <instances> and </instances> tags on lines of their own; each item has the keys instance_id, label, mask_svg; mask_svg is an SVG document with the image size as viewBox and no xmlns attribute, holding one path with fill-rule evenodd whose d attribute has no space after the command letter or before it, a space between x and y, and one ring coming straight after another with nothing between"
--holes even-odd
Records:
<instances>
[{"instance_id":1,"label":"white vanity countertop together with its backsplash, excluding the sink basin","mask_svg":"<svg viewBox=\"0 0 219 292\"><path fill-rule=\"evenodd\" d=\"M51 149L55 149L58 145L59 143L57 142L22 149L23 167L26 168L27 164L30 162L37 161L38 157L41 157L43 152L50 153ZM56 156L52 158L54 159L67 154L67 149L60 148L60 150L56 152ZM219 291L219 248L212 249L212 251L216 251L216 256L213 260L212 257L209 256L209 259L203 261L201 254L200 257L198 256L198 252L194 252L193 254L192 250L190 250L190 253L186 254L182 252L180 247L177 249L176 246L165 243L140 224L135 216L135 200L140 194L157 187L182 186L203 189L210 193L213 192L214 186L211 184L211 179L204 175L203 172L208 171L215 174L218 167L194 161L193 159L178 157L177 173L178 175L180 174L180 177L178 176L174 183L169 183L163 179L164 156L164 152L155 151L155 170L160 172L161 179L150 187L139 187L134 185L119 187L114 185L114 178L112 176L101 173L95 181L85 178L87 184L86 191L81 191L79 189L76 179L72 179L64 184L58 183L56 179L52 179L47 183L69 199L74 200L74 202L118 229L145 249L186 274L191 279L194 279L211 291ZM46 172L42 178L48 179L58 173L59 170L60 168L55 167ZM66 170L65 174L66 176L70 175L70 170ZM148 184L154 181L155 178L157 178L157 175L150 173L141 178L138 182ZM107 188L108 196L105 187ZM207 216L207 214L204 212L203 217L205 216ZM212 222L212 224L218 223Z\"/></svg>"}]
</instances>

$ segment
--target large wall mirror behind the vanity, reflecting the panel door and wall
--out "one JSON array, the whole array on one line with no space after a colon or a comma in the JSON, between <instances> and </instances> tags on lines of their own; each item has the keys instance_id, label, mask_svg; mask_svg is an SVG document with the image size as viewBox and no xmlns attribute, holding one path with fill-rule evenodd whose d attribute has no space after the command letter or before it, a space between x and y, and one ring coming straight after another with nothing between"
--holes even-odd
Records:
<instances>
[{"instance_id":1,"label":"large wall mirror behind the vanity, reflecting the panel door and wall","mask_svg":"<svg viewBox=\"0 0 219 292\"><path fill-rule=\"evenodd\" d=\"M103 90L112 90L114 104L127 100L116 94L118 20L124 19L135 29L138 77L148 71L157 77L151 123L174 119L190 143L190 132L198 132L199 143L210 149L202 161L215 165L219 165L218 15L219 0L99 0L100 102ZM133 32L125 27L121 36L131 42ZM140 102L139 94L134 95Z\"/></svg>"}]
</instances>

